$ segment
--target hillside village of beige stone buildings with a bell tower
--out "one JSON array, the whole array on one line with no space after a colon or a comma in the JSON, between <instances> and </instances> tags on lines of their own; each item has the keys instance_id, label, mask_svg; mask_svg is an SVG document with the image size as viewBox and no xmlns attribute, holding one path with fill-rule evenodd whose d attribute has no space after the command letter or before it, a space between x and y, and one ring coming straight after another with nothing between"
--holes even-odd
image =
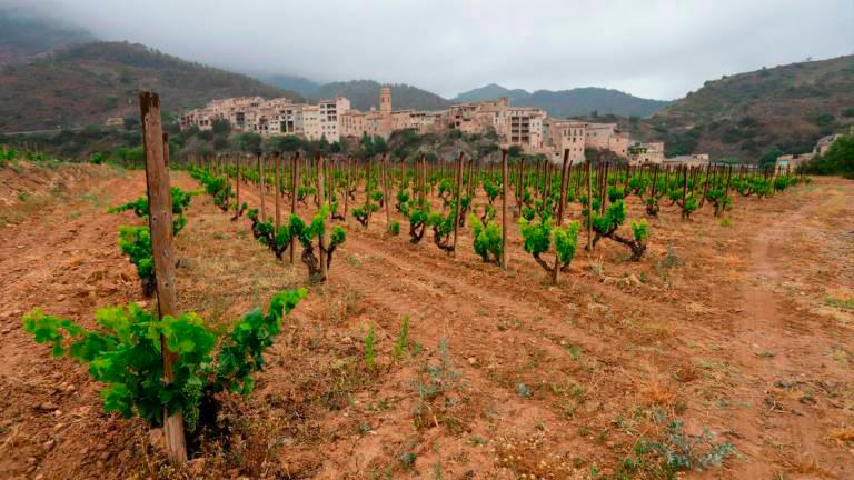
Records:
<instances>
[{"instance_id":1,"label":"hillside village of beige stone buildings with a bell tower","mask_svg":"<svg viewBox=\"0 0 854 480\"><path fill-rule=\"evenodd\" d=\"M608 150L629 164L707 162L708 156L666 159L663 142L632 142L616 123L594 123L549 118L544 109L510 106L508 98L455 103L447 110L394 110L391 91L383 88L379 109L363 112L350 107L345 97L320 100L317 104L296 103L287 98L265 100L241 97L214 100L205 108L181 116L181 129L210 130L216 120L228 120L232 129L262 138L299 136L308 140L337 142L341 138L378 136L411 129L418 133L458 130L466 134L494 131L506 146L518 146L527 153L542 153L554 162L569 152L572 164L583 163L585 149Z\"/></svg>"}]
</instances>

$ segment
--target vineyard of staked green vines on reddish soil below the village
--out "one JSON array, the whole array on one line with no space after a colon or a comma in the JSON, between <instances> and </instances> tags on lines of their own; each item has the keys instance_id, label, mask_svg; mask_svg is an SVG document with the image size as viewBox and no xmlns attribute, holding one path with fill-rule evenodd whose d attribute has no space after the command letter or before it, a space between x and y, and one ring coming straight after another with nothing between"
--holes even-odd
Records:
<instances>
[{"instance_id":1,"label":"vineyard of staked green vines on reddish soil below the village","mask_svg":"<svg viewBox=\"0 0 854 480\"><path fill-rule=\"evenodd\" d=\"M850 181L170 159L140 101L145 171L0 168L10 477L854 473Z\"/></svg>"}]
</instances>

